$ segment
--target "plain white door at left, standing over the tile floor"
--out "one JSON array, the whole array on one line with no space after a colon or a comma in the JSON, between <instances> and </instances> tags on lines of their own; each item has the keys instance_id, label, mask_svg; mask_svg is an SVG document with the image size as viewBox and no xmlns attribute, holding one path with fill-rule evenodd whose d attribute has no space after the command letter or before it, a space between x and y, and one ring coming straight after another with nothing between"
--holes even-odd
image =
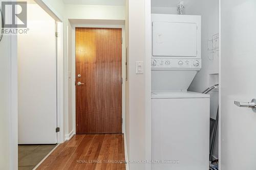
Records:
<instances>
[{"instance_id":1,"label":"plain white door at left, standing over the tile floor","mask_svg":"<svg viewBox=\"0 0 256 170\"><path fill-rule=\"evenodd\" d=\"M18 35L18 143L56 143L55 21L28 4L28 28Z\"/></svg>"}]
</instances>

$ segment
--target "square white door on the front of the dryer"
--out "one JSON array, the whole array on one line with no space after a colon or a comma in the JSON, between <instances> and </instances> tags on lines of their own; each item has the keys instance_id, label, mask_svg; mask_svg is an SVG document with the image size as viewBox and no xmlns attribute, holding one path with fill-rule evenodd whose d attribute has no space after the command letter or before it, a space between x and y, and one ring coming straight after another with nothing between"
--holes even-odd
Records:
<instances>
[{"instance_id":1,"label":"square white door on the front of the dryer","mask_svg":"<svg viewBox=\"0 0 256 170\"><path fill-rule=\"evenodd\" d=\"M197 23L153 22L153 56L197 57Z\"/></svg>"}]
</instances>

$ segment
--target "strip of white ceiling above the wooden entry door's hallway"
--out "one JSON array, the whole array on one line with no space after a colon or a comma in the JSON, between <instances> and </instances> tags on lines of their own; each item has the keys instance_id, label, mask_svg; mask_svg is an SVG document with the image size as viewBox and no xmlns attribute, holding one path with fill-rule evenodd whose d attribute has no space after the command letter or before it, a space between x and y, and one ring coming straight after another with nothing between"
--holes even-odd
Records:
<instances>
[{"instance_id":1,"label":"strip of white ceiling above the wooden entry door's hallway","mask_svg":"<svg viewBox=\"0 0 256 170\"><path fill-rule=\"evenodd\" d=\"M74 5L114 5L124 6L125 0L62 0L64 4Z\"/></svg>"}]
</instances>

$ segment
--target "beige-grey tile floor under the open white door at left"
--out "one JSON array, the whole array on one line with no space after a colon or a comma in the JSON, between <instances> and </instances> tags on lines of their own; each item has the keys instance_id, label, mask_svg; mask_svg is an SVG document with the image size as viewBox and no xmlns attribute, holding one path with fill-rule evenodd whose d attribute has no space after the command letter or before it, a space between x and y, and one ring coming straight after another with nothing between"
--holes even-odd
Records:
<instances>
[{"instance_id":1,"label":"beige-grey tile floor under the open white door at left","mask_svg":"<svg viewBox=\"0 0 256 170\"><path fill-rule=\"evenodd\" d=\"M18 170L33 169L56 145L18 145Z\"/></svg>"}]
</instances>

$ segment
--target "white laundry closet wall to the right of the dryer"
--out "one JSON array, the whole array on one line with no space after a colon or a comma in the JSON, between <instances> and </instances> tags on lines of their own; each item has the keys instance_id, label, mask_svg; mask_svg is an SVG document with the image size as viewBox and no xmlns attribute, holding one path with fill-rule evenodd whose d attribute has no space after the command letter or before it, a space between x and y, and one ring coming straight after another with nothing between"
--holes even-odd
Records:
<instances>
[{"instance_id":1,"label":"white laundry closet wall to the right of the dryer","mask_svg":"<svg viewBox=\"0 0 256 170\"><path fill-rule=\"evenodd\" d=\"M202 69L196 75L189 87L189 91L202 92L208 86L214 85L209 81L209 74L218 74L219 55L208 51L208 39L219 32L219 5L218 0L196 0L185 6L185 13L188 15L202 16ZM218 82L216 82L218 83ZM211 92L210 117L216 118L218 109L218 90ZM217 134L218 136L218 134ZM218 158L218 137L216 139L214 156Z\"/></svg>"}]
</instances>

